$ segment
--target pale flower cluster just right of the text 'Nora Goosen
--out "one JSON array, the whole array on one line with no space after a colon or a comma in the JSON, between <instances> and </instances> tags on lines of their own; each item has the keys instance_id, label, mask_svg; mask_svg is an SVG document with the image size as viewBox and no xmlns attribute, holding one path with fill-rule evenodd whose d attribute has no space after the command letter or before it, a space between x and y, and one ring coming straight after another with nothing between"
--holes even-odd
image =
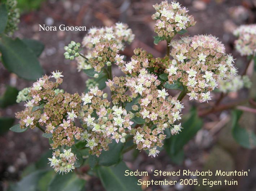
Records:
<instances>
[{"instance_id":1,"label":"pale flower cluster just right of the text 'Nora Goosen","mask_svg":"<svg viewBox=\"0 0 256 191\"><path fill-rule=\"evenodd\" d=\"M124 42L133 41L134 35L126 24L116 23L112 27L91 28L83 38L82 45L87 50L84 60L79 60L78 69L88 69L88 65L100 72L105 65L123 62L118 53L124 48ZM85 62L85 64L84 64Z\"/></svg>"}]
</instances>

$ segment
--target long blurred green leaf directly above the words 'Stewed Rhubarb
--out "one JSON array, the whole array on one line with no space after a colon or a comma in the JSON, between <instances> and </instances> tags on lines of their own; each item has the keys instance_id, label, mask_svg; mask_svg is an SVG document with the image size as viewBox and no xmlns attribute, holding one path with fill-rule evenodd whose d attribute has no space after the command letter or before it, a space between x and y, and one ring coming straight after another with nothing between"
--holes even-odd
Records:
<instances>
[{"instance_id":1,"label":"long blurred green leaf directly above the words 'Stewed Rhubarb","mask_svg":"<svg viewBox=\"0 0 256 191\"><path fill-rule=\"evenodd\" d=\"M183 146L193 138L199 129L203 126L203 121L198 117L196 109L192 109L190 117L182 123L182 131L177 135L173 135L165 139L164 147L168 155L173 158L180 155Z\"/></svg>"}]
</instances>

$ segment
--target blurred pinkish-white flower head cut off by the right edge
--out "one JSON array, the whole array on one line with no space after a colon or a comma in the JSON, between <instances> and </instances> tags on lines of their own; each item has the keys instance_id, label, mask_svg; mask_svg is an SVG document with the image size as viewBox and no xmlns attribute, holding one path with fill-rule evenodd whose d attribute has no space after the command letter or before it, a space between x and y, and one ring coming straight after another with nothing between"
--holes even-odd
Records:
<instances>
[{"instance_id":1,"label":"blurred pinkish-white flower head cut off by the right edge","mask_svg":"<svg viewBox=\"0 0 256 191\"><path fill-rule=\"evenodd\" d=\"M255 55L256 53L256 24L242 25L233 32L238 39L235 48L242 56Z\"/></svg>"}]
</instances>

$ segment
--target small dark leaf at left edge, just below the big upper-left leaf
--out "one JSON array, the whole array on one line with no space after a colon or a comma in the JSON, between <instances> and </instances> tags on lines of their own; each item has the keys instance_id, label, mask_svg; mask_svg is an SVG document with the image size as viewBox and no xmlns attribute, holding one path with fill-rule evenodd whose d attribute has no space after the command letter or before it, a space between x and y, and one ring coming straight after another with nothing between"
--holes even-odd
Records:
<instances>
[{"instance_id":1,"label":"small dark leaf at left edge, just below the big upper-left leaf","mask_svg":"<svg viewBox=\"0 0 256 191\"><path fill-rule=\"evenodd\" d=\"M0 108L16 103L19 90L16 87L7 86L4 94L0 97Z\"/></svg>"}]
</instances>

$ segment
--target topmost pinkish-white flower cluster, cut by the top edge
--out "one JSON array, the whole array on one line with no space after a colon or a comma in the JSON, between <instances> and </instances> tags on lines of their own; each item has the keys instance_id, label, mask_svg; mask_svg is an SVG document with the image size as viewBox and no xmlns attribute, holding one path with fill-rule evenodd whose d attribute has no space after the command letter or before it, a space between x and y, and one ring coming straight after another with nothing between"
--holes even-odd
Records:
<instances>
[{"instance_id":1,"label":"topmost pinkish-white flower cluster, cut by the top edge","mask_svg":"<svg viewBox=\"0 0 256 191\"><path fill-rule=\"evenodd\" d=\"M155 32L160 37L173 38L177 32L195 25L194 17L188 15L185 7L173 1L162 1L161 4L153 5L156 13L152 19L156 20Z\"/></svg>"}]
</instances>

